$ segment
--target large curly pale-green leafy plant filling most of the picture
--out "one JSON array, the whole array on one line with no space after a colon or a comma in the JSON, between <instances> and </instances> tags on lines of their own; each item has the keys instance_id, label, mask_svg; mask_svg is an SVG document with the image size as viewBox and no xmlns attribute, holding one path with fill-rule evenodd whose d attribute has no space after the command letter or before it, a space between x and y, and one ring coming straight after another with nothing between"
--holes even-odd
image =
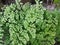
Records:
<instances>
[{"instance_id":1,"label":"large curly pale-green leafy plant filling most of the picture","mask_svg":"<svg viewBox=\"0 0 60 45\"><path fill-rule=\"evenodd\" d=\"M23 5L16 0L0 12L0 35L3 34L0 37L4 37L0 41L4 41L4 45L54 45L58 24L55 13L43 8L38 1L35 5Z\"/></svg>"}]
</instances>

